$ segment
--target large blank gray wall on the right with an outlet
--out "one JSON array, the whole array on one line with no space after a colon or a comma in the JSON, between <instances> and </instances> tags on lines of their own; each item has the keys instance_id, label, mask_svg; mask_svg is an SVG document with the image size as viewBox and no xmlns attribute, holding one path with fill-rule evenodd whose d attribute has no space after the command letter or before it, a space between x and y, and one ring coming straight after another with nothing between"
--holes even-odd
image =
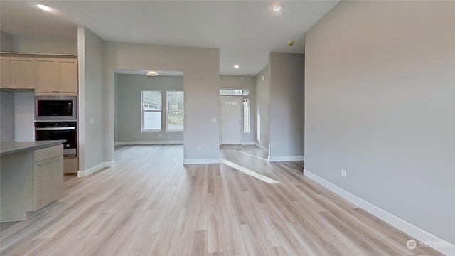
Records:
<instances>
[{"instance_id":1,"label":"large blank gray wall on the right with an outlet","mask_svg":"<svg viewBox=\"0 0 455 256\"><path fill-rule=\"evenodd\" d=\"M305 36L305 169L452 244L454 9L341 1Z\"/></svg>"}]
</instances>

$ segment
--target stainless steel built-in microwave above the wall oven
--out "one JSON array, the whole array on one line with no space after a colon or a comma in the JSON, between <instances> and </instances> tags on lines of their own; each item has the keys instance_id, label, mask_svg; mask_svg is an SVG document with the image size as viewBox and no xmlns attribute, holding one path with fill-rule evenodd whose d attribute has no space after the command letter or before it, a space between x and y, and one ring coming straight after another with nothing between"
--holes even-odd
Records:
<instances>
[{"instance_id":1,"label":"stainless steel built-in microwave above the wall oven","mask_svg":"<svg viewBox=\"0 0 455 256\"><path fill-rule=\"evenodd\" d=\"M77 97L36 96L35 119L39 121L77 120Z\"/></svg>"}]
</instances>

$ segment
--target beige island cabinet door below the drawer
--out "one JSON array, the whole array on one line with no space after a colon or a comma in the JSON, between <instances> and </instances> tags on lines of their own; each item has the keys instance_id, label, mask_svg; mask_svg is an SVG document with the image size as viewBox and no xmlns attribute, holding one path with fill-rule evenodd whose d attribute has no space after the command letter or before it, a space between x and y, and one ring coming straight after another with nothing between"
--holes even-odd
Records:
<instances>
[{"instance_id":1,"label":"beige island cabinet door below the drawer","mask_svg":"<svg viewBox=\"0 0 455 256\"><path fill-rule=\"evenodd\" d=\"M63 196L63 156L38 161L33 166L34 210Z\"/></svg>"}]
</instances>

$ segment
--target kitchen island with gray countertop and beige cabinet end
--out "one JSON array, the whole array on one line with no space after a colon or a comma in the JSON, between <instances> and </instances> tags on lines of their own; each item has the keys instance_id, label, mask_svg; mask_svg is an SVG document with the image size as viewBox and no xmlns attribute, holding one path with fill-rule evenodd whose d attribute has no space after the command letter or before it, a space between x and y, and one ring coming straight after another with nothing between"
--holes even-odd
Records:
<instances>
[{"instance_id":1,"label":"kitchen island with gray countertop and beige cabinet end","mask_svg":"<svg viewBox=\"0 0 455 256\"><path fill-rule=\"evenodd\" d=\"M62 142L1 142L0 223L26 220L63 197Z\"/></svg>"}]
</instances>

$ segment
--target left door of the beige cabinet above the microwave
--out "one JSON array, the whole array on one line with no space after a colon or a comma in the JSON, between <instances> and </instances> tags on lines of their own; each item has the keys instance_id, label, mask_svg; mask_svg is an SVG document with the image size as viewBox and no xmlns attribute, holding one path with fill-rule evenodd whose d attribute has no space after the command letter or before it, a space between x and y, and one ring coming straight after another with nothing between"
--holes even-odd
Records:
<instances>
[{"instance_id":1,"label":"left door of the beige cabinet above the microwave","mask_svg":"<svg viewBox=\"0 0 455 256\"><path fill-rule=\"evenodd\" d=\"M58 92L58 60L53 58L36 58L35 92Z\"/></svg>"}]
</instances>

